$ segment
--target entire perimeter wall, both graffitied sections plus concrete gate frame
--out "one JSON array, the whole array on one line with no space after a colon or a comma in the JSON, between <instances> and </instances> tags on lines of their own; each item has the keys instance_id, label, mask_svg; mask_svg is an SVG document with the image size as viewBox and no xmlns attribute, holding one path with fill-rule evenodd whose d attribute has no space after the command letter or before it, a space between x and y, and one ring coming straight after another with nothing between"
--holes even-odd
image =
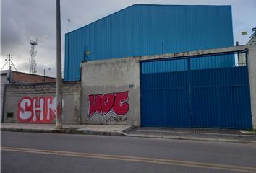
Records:
<instances>
[{"instance_id":1,"label":"entire perimeter wall, both graffitied sections plus concrete gate frame","mask_svg":"<svg viewBox=\"0 0 256 173\"><path fill-rule=\"evenodd\" d=\"M248 50L252 126L256 128L256 45L81 63L81 82L63 83L64 124L141 125L140 61ZM5 123L54 123L56 84L7 84ZM157 115L156 115L157 116Z\"/></svg>"}]
</instances>

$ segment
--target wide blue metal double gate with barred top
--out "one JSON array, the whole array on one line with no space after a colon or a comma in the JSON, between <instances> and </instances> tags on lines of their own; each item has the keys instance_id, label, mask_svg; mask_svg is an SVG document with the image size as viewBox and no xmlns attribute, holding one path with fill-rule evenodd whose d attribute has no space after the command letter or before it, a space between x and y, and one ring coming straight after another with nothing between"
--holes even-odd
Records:
<instances>
[{"instance_id":1,"label":"wide blue metal double gate with barred top","mask_svg":"<svg viewBox=\"0 0 256 173\"><path fill-rule=\"evenodd\" d=\"M252 128L247 64L231 63L242 54L142 61L141 125Z\"/></svg>"}]
</instances>

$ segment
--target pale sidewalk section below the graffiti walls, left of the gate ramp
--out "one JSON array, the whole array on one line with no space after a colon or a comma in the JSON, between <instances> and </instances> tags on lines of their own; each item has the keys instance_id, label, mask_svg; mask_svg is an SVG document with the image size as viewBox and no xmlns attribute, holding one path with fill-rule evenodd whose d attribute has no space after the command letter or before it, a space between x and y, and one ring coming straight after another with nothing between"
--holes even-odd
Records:
<instances>
[{"instance_id":1,"label":"pale sidewalk section below the graffiti walls, left of the gate ramp","mask_svg":"<svg viewBox=\"0 0 256 173\"><path fill-rule=\"evenodd\" d=\"M122 133L127 133L132 128L132 125L63 125L62 129L56 129L54 124L1 123L1 131L78 133L107 136L123 136Z\"/></svg>"}]
</instances>

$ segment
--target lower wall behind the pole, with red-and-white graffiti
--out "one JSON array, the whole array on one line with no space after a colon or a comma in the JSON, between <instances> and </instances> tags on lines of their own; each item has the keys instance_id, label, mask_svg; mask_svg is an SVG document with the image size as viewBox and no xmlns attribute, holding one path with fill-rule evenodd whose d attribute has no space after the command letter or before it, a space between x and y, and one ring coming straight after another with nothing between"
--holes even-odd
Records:
<instances>
[{"instance_id":1,"label":"lower wall behind the pole, with red-and-white graffiti","mask_svg":"<svg viewBox=\"0 0 256 173\"><path fill-rule=\"evenodd\" d=\"M63 83L63 123L80 124L80 81ZM4 123L55 123L56 83L7 84Z\"/></svg>"}]
</instances>

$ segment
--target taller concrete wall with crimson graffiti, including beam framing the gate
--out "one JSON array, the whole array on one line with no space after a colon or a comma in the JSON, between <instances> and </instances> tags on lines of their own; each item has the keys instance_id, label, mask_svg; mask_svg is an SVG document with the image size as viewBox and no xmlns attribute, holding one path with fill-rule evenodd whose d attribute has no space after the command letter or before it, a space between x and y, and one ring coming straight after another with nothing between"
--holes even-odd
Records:
<instances>
[{"instance_id":1,"label":"taller concrete wall with crimson graffiti, including beam framing the gate","mask_svg":"<svg viewBox=\"0 0 256 173\"><path fill-rule=\"evenodd\" d=\"M88 61L81 64L82 123L140 125L140 61L229 53L249 50L249 84L251 93L252 124L256 128L256 56L255 45L168 53L155 56L116 58L104 61ZM118 115L113 110L110 95L128 91L129 110ZM110 101L109 101L110 100ZM121 103L119 103L120 105ZM112 106L112 107L111 107ZM103 107L103 109L102 109Z\"/></svg>"}]
</instances>

